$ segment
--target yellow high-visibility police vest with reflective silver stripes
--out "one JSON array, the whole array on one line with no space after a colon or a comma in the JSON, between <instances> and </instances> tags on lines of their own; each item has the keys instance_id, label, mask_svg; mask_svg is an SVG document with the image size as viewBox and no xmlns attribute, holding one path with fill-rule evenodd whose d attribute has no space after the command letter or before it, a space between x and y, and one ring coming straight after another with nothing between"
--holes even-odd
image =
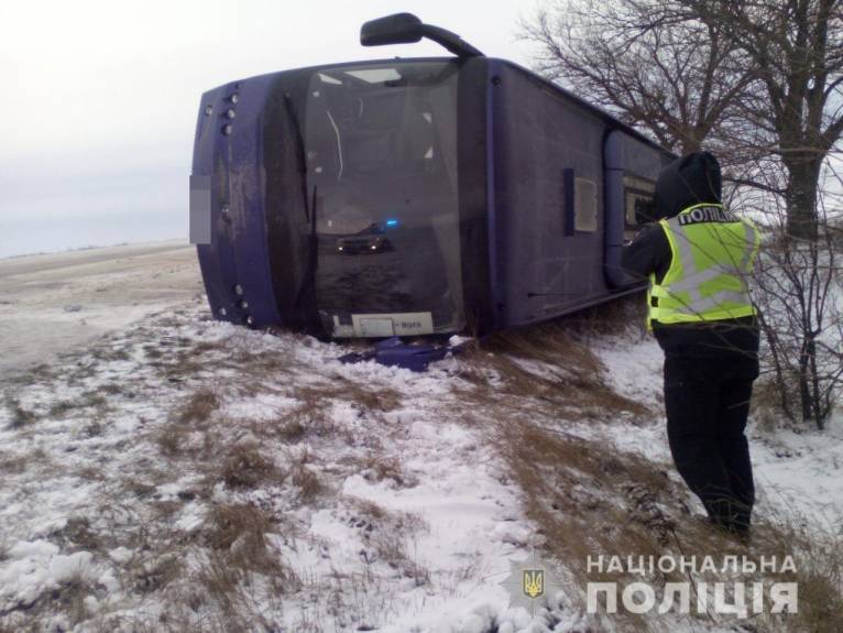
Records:
<instances>
[{"instance_id":1,"label":"yellow high-visibility police vest with reflective silver stripes","mask_svg":"<svg viewBox=\"0 0 843 633\"><path fill-rule=\"evenodd\" d=\"M647 326L734 319L756 314L747 288L760 233L723 205L694 205L659 225L670 242L661 283L650 275Z\"/></svg>"}]
</instances>

